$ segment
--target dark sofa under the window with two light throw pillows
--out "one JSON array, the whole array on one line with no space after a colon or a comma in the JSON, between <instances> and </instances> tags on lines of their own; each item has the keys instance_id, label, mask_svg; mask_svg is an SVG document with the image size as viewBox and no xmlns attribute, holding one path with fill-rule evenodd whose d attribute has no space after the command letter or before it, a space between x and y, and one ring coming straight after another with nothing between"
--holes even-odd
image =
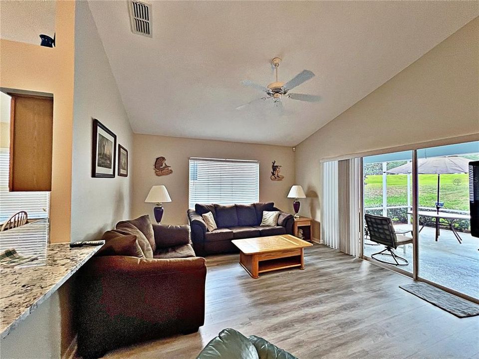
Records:
<instances>
[{"instance_id":1,"label":"dark sofa under the window with two light throw pillows","mask_svg":"<svg viewBox=\"0 0 479 359\"><path fill-rule=\"evenodd\" d=\"M263 211L279 211L276 226L260 226ZM208 231L202 214L212 212L218 229ZM196 204L188 210L193 247L198 255L238 252L232 239L292 234L294 217L273 202L252 204Z\"/></svg>"}]
</instances>

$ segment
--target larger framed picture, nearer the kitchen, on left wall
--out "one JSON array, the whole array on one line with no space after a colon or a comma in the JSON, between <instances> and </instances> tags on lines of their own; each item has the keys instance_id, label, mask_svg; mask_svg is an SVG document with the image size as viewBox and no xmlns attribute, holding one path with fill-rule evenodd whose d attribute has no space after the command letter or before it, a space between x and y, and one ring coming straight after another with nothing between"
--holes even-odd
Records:
<instances>
[{"instance_id":1,"label":"larger framed picture, nearer the kitchen, on left wall","mask_svg":"<svg viewBox=\"0 0 479 359\"><path fill-rule=\"evenodd\" d=\"M91 177L114 178L116 135L97 119L93 119Z\"/></svg>"}]
</instances>

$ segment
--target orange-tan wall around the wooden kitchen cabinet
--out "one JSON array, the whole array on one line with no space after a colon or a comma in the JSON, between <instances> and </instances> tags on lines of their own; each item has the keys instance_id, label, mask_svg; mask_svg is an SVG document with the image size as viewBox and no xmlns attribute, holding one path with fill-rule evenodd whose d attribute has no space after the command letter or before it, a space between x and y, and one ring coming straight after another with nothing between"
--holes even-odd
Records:
<instances>
[{"instance_id":1,"label":"orange-tan wall around the wooden kitchen cabinet","mask_svg":"<svg viewBox=\"0 0 479 359\"><path fill-rule=\"evenodd\" d=\"M56 47L0 39L0 86L52 93L50 241L70 240L75 2L56 5Z\"/></svg>"}]
</instances>

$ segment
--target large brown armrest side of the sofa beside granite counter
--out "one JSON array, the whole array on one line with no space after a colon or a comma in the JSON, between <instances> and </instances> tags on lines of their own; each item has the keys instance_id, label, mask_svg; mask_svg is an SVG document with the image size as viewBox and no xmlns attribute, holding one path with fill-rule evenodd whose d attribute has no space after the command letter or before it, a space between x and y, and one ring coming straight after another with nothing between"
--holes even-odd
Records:
<instances>
[{"instance_id":1,"label":"large brown armrest side of the sofa beside granite counter","mask_svg":"<svg viewBox=\"0 0 479 359\"><path fill-rule=\"evenodd\" d=\"M98 358L119 346L204 324L205 259L91 258L77 276L78 353Z\"/></svg>"}]
</instances>

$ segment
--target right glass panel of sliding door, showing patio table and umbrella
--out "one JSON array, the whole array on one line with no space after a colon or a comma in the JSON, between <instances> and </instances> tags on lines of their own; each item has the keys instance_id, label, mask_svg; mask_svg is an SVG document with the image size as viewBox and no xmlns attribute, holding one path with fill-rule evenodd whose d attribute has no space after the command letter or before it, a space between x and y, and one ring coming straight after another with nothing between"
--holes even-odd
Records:
<instances>
[{"instance_id":1,"label":"right glass panel of sliding door, showing patio table and umbrella","mask_svg":"<svg viewBox=\"0 0 479 359\"><path fill-rule=\"evenodd\" d=\"M479 142L417 151L420 278L479 298L479 238L471 235L469 162Z\"/></svg>"}]
</instances>

